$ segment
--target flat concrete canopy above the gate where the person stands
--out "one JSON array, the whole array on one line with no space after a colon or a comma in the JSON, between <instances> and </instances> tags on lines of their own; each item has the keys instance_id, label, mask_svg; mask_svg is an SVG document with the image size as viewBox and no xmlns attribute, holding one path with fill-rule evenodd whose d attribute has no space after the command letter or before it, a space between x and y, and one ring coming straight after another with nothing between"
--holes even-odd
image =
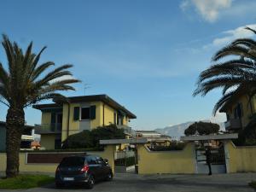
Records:
<instances>
[{"instance_id":1,"label":"flat concrete canopy above the gate where the person stands","mask_svg":"<svg viewBox=\"0 0 256 192\"><path fill-rule=\"evenodd\" d=\"M238 138L237 133L230 133L230 134L211 134L211 135L204 135L204 136L184 136L180 137L181 141L207 141L207 140L229 140L229 139L236 139Z\"/></svg>"}]
</instances>

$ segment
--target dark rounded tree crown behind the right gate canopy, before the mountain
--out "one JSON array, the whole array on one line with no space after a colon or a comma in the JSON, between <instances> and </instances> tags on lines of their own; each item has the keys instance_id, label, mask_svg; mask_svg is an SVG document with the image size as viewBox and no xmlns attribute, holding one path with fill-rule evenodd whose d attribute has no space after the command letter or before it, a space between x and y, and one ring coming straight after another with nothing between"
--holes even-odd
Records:
<instances>
[{"instance_id":1,"label":"dark rounded tree crown behind the right gate canopy, before the mountain","mask_svg":"<svg viewBox=\"0 0 256 192\"><path fill-rule=\"evenodd\" d=\"M195 122L192 125L189 125L189 127L184 131L184 134L186 136L192 136L195 135L196 132L198 132L199 135L209 135L211 133L218 133L218 131L218 124L199 121Z\"/></svg>"}]
</instances>

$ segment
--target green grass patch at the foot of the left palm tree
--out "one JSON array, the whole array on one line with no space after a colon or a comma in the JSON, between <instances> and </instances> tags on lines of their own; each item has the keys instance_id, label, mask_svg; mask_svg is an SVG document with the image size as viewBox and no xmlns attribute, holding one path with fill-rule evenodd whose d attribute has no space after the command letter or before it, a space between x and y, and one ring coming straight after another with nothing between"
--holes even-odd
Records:
<instances>
[{"instance_id":1,"label":"green grass patch at the foot of the left palm tree","mask_svg":"<svg viewBox=\"0 0 256 192\"><path fill-rule=\"evenodd\" d=\"M1 178L0 189L30 189L53 183L54 177L47 175L19 175L13 178Z\"/></svg>"}]
</instances>

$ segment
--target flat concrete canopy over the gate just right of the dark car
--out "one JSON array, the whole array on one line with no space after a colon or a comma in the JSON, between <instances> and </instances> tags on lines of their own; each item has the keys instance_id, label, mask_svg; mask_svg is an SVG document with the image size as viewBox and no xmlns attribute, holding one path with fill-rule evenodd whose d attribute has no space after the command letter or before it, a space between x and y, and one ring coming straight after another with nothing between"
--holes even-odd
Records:
<instances>
[{"instance_id":1,"label":"flat concrete canopy over the gate just right of the dark car","mask_svg":"<svg viewBox=\"0 0 256 192\"><path fill-rule=\"evenodd\" d=\"M131 139L106 139L100 140L100 144L114 145L114 144L143 144L148 143L147 138L131 138Z\"/></svg>"}]
</instances>

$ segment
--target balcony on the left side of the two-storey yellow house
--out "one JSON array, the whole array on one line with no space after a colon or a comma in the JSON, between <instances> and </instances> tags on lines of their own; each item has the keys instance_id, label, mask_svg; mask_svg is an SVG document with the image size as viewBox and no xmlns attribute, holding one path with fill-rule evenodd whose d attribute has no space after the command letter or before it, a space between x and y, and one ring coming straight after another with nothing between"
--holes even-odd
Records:
<instances>
[{"instance_id":1,"label":"balcony on the left side of the two-storey yellow house","mask_svg":"<svg viewBox=\"0 0 256 192\"><path fill-rule=\"evenodd\" d=\"M41 124L35 125L36 134L60 134L62 130L62 124Z\"/></svg>"}]
</instances>

